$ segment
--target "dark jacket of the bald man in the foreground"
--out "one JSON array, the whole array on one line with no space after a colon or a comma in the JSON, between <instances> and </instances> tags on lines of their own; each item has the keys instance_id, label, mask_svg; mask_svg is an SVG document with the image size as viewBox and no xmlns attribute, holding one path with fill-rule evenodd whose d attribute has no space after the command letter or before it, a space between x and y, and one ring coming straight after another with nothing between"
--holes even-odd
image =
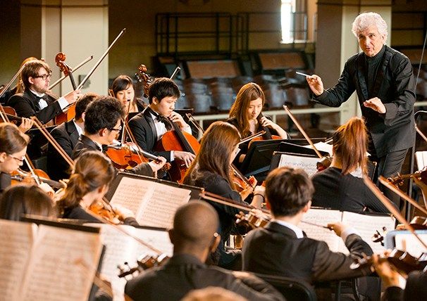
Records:
<instances>
[{"instance_id":1,"label":"dark jacket of the bald man in the foreground","mask_svg":"<svg viewBox=\"0 0 427 301\"><path fill-rule=\"evenodd\" d=\"M253 279L256 280L254 286L246 281L243 283L230 271L207 267L192 255L173 255L162 267L149 269L128 281L125 294L135 301L181 300L190 290L218 286L248 300L283 300L283 297L264 281Z\"/></svg>"}]
</instances>

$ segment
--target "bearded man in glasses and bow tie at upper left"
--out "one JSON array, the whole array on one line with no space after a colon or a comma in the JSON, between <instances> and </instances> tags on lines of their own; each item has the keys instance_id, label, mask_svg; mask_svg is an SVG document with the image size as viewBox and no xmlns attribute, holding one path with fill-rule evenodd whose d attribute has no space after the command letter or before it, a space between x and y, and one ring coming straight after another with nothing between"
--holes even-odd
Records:
<instances>
[{"instance_id":1,"label":"bearded man in glasses and bow tie at upper left","mask_svg":"<svg viewBox=\"0 0 427 301\"><path fill-rule=\"evenodd\" d=\"M47 123L61 114L63 109L77 100L80 90L70 91L56 100L54 96L47 94L51 73L49 65L42 60L26 63L22 71L25 91L23 94L13 95L7 105L14 108L18 116L36 116L42 123Z\"/></svg>"}]
</instances>

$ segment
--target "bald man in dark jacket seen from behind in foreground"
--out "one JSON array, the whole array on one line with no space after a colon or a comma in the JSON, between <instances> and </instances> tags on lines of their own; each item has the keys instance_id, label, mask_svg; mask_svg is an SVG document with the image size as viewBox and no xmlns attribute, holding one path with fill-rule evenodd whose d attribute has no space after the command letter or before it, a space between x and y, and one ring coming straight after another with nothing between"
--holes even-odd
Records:
<instances>
[{"instance_id":1,"label":"bald man in dark jacket seen from behind in foreground","mask_svg":"<svg viewBox=\"0 0 427 301\"><path fill-rule=\"evenodd\" d=\"M280 293L259 278L241 273L242 277L237 278L228 270L204 264L220 242L216 229L218 214L209 204L194 201L180 207L169 231L173 257L163 266L128 281L125 294L135 301L182 300L190 290L216 286L247 300L283 300Z\"/></svg>"}]
</instances>

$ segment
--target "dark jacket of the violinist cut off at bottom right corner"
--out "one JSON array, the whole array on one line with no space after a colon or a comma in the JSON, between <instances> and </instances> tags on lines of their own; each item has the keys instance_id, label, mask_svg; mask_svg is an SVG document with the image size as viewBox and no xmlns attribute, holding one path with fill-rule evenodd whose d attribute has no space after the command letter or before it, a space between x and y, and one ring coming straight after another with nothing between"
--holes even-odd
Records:
<instances>
[{"instance_id":1,"label":"dark jacket of the violinist cut off at bottom right corner","mask_svg":"<svg viewBox=\"0 0 427 301\"><path fill-rule=\"evenodd\" d=\"M383 301L411 301L425 300L427 297L427 272L412 271L407 278L404 290L396 286L387 288L381 300Z\"/></svg>"}]
</instances>

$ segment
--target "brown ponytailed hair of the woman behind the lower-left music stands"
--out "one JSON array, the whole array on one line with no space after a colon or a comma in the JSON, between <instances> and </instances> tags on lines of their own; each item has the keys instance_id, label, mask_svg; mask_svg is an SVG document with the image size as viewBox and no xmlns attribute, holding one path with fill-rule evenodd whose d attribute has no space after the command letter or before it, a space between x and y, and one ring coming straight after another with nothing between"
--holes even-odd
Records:
<instances>
[{"instance_id":1,"label":"brown ponytailed hair of the woman behind the lower-left music stands","mask_svg":"<svg viewBox=\"0 0 427 301\"><path fill-rule=\"evenodd\" d=\"M111 160L99 151L88 151L75 161L75 170L68 181L66 192L58 200L58 211L77 207L83 196L113 180L115 169Z\"/></svg>"}]
</instances>

